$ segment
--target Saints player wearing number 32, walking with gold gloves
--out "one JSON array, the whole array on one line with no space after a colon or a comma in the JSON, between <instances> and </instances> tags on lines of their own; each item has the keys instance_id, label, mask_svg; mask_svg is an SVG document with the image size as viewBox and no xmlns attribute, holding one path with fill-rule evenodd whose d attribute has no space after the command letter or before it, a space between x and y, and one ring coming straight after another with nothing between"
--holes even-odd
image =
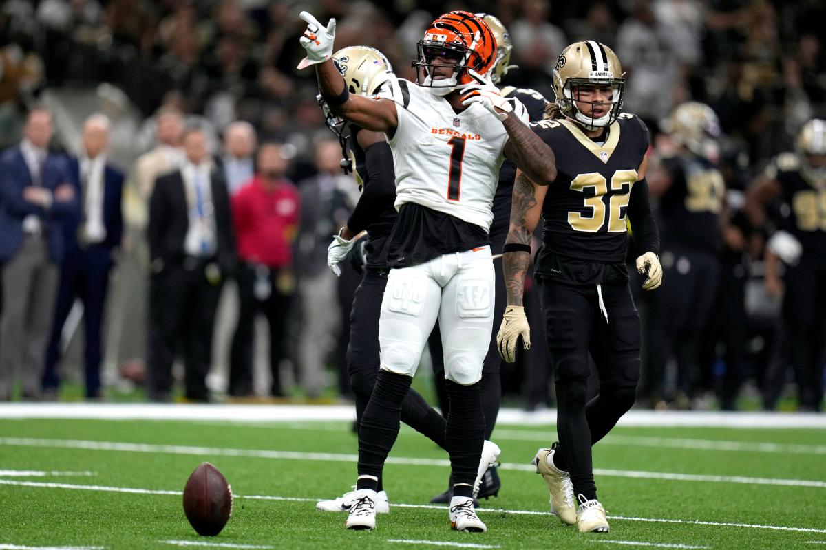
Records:
<instances>
[{"instance_id":1,"label":"Saints player wearing number 32, walking with gold gloves","mask_svg":"<svg viewBox=\"0 0 826 550\"><path fill-rule=\"evenodd\" d=\"M643 289L662 282L659 234L645 181L648 129L622 113L623 72L614 52L593 40L563 50L553 71L556 103L532 124L554 151L557 177L538 185L517 172L504 247L508 307L497 335L514 360L520 338L530 346L522 308L530 239L544 218L534 275L557 388L559 441L539 449L536 472L551 493L551 511L585 532L609 529L597 500L591 445L631 408L640 372L640 323L628 283L626 219L645 251L636 260ZM586 402L588 355L600 378ZM578 506L577 506L578 505Z\"/></svg>"}]
</instances>

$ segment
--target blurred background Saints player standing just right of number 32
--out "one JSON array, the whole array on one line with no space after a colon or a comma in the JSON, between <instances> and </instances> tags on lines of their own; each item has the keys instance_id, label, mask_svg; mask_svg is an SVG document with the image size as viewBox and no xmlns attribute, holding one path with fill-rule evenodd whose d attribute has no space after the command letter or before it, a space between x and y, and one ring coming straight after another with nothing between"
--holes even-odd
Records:
<instances>
[{"instance_id":1,"label":"blurred background Saints player standing just right of number 32","mask_svg":"<svg viewBox=\"0 0 826 550\"><path fill-rule=\"evenodd\" d=\"M659 199L660 260L668 284L652 300L643 393L659 406L691 406L699 375L700 333L719 284L719 244L732 233L725 212L725 183L717 167L719 121L710 106L690 101L677 106L663 125L676 146L648 170L651 196ZM676 356L677 388L665 385L666 362Z\"/></svg>"}]
</instances>

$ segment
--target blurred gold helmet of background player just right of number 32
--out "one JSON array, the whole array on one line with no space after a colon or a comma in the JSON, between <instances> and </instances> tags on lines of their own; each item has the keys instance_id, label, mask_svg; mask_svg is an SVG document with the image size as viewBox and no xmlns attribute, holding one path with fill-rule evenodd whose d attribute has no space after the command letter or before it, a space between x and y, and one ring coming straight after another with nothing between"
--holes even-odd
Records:
<instances>
[{"instance_id":1,"label":"blurred gold helmet of background player just right of number 32","mask_svg":"<svg viewBox=\"0 0 826 550\"><path fill-rule=\"evenodd\" d=\"M663 121L662 129L691 153L712 161L719 157L719 119L705 103L688 101L676 106L667 120Z\"/></svg>"}]
</instances>

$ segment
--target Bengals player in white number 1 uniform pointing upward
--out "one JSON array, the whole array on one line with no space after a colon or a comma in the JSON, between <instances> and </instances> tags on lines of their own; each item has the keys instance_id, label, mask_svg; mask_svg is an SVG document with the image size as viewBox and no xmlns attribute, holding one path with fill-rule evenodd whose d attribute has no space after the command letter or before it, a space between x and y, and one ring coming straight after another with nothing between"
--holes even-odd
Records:
<instances>
[{"instance_id":1,"label":"Bengals player in white number 1 uniform pointing upward","mask_svg":"<svg viewBox=\"0 0 826 550\"><path fill-rule=\"evenodd\" d=\"M373 529L376 489L399 430L401 402L437 317L450 398L445 443L453 472L454 529L486 531L472 505L485 423L479 380L493 317L488 229L505 157L538 184L553 181L553 151L525 124L519 101L504 99L489 75L496 40L468 12L439 16L418 43L417 82L392 78L377 97L349 90L331 61L335 20L307 12L299 68L316 65L321 94L345 120L387 134L399 219L379 319L381 370L358 443L358 500L349 529Z\"/></svg>"}]
</instances>

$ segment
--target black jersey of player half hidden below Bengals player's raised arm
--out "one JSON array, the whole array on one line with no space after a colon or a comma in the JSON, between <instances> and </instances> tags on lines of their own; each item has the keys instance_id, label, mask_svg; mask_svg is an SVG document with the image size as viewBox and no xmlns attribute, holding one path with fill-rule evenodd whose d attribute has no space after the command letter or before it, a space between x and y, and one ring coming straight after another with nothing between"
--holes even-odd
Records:
<instances>
[{"instance_id":1,"label":"black jersey of player half hidden below Bengals player's raised arm","mask_svg":"<svg viewBox=\"0 0 826 550\"><path fill-rule=\"evenodd\" d=\"M356 135L361 130L353 125L351 134L347 139L347 152L353 162L354 176L358 181L358 189L362 195L358 204L350 216L348 226L356 233L367 231L367 266L374 269L385 269L387 267L387 245L390 241L390 234L393 225L399 214L393 206L396 200L395 182L392 172L392 164L387 167L388 174L382 173L376 176L376 169L368 169L367 153L358 145ZM376 143L373 147L388 147L387 143ZM388 152L389 153L389 152ZM372 173L373 172L373 173ZM384 179L387 181L379 181Z\"/></svg>"}]
</instances>

